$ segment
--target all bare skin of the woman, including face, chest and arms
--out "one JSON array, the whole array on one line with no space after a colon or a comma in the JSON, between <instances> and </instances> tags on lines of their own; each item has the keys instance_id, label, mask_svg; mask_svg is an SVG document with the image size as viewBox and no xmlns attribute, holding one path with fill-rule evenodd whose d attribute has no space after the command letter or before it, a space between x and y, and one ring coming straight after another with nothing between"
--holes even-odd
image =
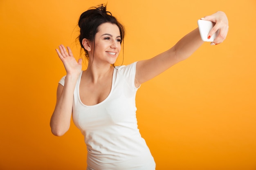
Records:
<instances>
[{"instance_id":1,"label":"all bare skin of the woman, including face, chest and arms","mask_svg":"<svg viewBox=\"0 0 256 170\"><path fill-rule=\"evenodd\" d=\"M228 20L224 12L218 11L213 15L205 16L203 20L216 22L209 36L218 29L220 33L213 41L215 44L223 42L228 32ZM83 39L83 46L89 53L87 70L83 71L80 82L80 98L85 105L95 105L108 97L112 86L114 64L121 50L120 32L115 24L104 23L99 26L95 35L95 46L87 39ZM203 44L198 28L185 35L180 41L167 51L137 62L135 86L152 79L178 62L188 58ZM76 80L82 69L82 61L75 60L69 47L60 45L56 52L64 64L67 75L65 86L58 84L57 100L54 113L50 121L52 133L62 136L70 128L72 115L73 93ZM92 60L93 56L93 60ZM90 97L88 97L90 96Z\"/></svg>"}]
</instances>

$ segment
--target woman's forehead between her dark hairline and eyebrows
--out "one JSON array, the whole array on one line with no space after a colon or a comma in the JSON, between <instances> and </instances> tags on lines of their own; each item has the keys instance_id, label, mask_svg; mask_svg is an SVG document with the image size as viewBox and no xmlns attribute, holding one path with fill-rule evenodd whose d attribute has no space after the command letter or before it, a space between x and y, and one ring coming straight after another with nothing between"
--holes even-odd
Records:
<instances>
[{"instance_id":1,"label":"woman's forehead between her dark hairline and eyebrows","mask_svg":"<svg viewBox=\"0 0 256 170\"><path fill-rule=\"evenodd\" d=\"M99 34L103 35L105 33L111 34L113 36L120 36L120 30L116 24L109 22L103 23L99 26Z\"/></svg>"}]
</instances>

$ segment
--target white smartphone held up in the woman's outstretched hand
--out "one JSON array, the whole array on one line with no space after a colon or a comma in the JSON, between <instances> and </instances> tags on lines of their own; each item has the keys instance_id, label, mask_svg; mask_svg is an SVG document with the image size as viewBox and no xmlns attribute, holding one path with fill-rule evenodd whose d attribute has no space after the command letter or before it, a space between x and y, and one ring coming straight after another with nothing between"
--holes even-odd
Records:
<instances>
[{"instance_id":1,"label":"white smartphone held up in the woman's outstretched hand","mask_svg":"<svg viewBox=\"0 0 256 170\"><path fill-rule=\"evenodd\" d=\"M198 28L203 41L213 42L213 40L219 34L219 30L214 33L210 39L208 39L208 34L215 25L215 22L207 21L207 20L198 20Z\"/></svg>"}]
</instances>

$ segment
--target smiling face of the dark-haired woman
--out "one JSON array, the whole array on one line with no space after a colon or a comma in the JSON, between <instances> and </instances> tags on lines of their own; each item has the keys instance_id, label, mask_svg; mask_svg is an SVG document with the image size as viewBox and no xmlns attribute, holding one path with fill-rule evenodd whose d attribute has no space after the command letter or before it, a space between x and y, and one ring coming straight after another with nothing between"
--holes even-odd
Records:
<instances>
[{"instance_id":1,"label":"smiling face of the dark-haired woman","mask_svg":"<svg viewBox=\"0 0 256 170\"><path fill-rule=\"evenodd\" d=\"M101 24L94 41L93 62L114 64L121 50L121 36L118 26L108 22Z\"/></svg>"}]
</instances>

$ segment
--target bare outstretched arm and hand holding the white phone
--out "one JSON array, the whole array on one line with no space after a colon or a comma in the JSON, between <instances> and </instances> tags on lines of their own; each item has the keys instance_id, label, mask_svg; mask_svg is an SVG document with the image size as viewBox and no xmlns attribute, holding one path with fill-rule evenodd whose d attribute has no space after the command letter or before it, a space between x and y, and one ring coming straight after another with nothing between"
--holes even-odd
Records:
<instances>
[{"instance_id":1,"label":"bare outstretched arm and hand holding the white phone","mask_svg":"<svg viewBox=\"0 0 256 170\"><path fill-rule=\"evenodd\" d=\"M220 32L212 43L222 43L227 36L229 28L226 14L222 11L218 11L202 19L216 22L215 26L209 32L208 37L212 36L219 29ZM200 37L199 29L197 28L180 39L171 49L148 60L137 62L135 86L138 87L140 84L166 71L174 64L185 60L202 44L203 41Z\"/></svg>"}]
</instances>

